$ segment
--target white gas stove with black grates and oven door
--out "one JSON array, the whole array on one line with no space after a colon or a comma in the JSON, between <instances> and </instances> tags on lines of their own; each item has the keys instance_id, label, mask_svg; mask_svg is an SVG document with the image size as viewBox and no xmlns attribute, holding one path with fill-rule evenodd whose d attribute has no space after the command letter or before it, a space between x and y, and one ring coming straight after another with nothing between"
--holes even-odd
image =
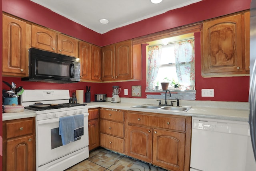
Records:
<instances>
[{"instance_id":1,"label":"white gas stove with black grates and oven door","mask_svg":"<svg viewBox=\"0 0 256 171\"><path fill-rule=\"evenodd\" d=\"M69 90L24 90L21 104L36 113L36 170L64 170L89 157L88 107L70 104ZM84 135L66 145L59 135L60 118L84 115Z\"/></svg>"}]
</instances>

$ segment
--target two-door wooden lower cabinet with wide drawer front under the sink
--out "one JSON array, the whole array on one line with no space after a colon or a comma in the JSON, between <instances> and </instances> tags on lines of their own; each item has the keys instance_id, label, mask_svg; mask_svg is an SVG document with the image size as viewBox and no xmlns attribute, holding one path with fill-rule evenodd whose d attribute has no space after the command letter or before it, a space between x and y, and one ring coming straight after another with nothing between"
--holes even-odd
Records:
<instances>
[{"instance_id":1,"label":"two-door wooden lower cabinet with wide drawer front under the sink","mask_svg":"<svg viewBox=\"0 0 256 171\"><path fill-rule=\"evenodd\" d=\"M127 113L127 155L171 171L189 171L191 117Z\"/></svg>"}]
</instances>

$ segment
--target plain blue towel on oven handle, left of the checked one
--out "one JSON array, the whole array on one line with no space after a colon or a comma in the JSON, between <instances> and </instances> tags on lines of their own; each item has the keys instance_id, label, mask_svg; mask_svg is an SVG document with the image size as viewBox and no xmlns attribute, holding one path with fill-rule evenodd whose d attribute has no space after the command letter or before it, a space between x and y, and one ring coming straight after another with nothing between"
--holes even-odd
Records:
<instances>
[{"instance_id":1,"label":"plain blue towel on oven handle, left of the checked one","mask_svg":"<svg viewBox=\"0 0 256 171\"><path fill-rule=\"evenodd\" d=\"M62 117L59 122L59 135L61 136L62 144L66 145L74 142L74 117Z\"/></svg>"}]
</instances>

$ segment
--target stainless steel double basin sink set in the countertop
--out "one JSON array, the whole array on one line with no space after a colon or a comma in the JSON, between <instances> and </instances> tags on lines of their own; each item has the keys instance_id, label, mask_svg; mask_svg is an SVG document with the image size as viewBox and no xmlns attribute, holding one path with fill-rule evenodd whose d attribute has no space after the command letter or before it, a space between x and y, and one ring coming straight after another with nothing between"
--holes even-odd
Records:
<instances>
[{"instance_id":1,"label":"stainless steel double basin sink set in the countertop","mask_svg":"<svg viewBox=\"0 0 256 171\"><path fill-rule=\"evenodd\" d=\"M192 108L191 106L159 106L156 104L142 104L138 106L132 106L132 108L147 108L156 110L170 110L170 111L182 111L186 112Z\"/></svg>"}]
</instances>

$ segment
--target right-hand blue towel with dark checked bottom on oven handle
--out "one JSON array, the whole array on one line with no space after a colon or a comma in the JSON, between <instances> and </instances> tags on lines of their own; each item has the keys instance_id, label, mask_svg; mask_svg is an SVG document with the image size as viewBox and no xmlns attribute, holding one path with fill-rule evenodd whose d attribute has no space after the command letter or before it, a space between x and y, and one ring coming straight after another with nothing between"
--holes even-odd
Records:
<instances>
[{"instance_id":1,"label":"right-hand blue towel with dark checked bottom on oven handle","mask_svg":"<svg viewBox=\"0 0 256 171\"><path fill-rule=\"evenodd\" d=\"M84 135L84 115L74 115L74 139Z\"/></svg>"}]
</instances>

